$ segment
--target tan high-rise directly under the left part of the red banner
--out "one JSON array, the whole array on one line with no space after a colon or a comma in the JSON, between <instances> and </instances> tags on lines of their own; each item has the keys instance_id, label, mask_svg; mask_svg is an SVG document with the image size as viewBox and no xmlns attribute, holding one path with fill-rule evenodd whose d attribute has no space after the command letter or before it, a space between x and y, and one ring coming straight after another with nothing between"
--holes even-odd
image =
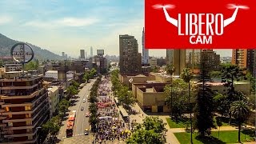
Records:
<instances>
[{"instance_id":1,"label":"tan high-rise directly under the left part of the red banner","mask_svg":"<svg viewBox=\"0 0 256 144\"><path fill-rule=\"evenodd\" d=\"M174 65L174 75L182 74L186 67L194 70L199 68L201 50L167 50L166 65Z\"/></svg>"}]
</instances>

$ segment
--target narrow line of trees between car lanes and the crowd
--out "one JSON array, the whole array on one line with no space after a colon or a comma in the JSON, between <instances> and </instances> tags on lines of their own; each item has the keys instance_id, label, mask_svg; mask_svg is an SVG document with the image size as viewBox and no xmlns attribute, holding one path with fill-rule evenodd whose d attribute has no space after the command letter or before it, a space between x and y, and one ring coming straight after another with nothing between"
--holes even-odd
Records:
<instances>
[{"instance_id":1,"label":"narrow line of trees between car lanes and the crowd","mask_svg":"<svg viewBox=\"0 0 256 144\"><path fill-rule=\"evenodd\" d=\"M96 130L96 126L98 123L98 85L102 80L102 76L98 77L97 80L94 82L94 85L90 89L90 97L89 97L89 110L90 110L90 125L91 125L91 130L94 132Z\"/></svg>"}]
</instances>

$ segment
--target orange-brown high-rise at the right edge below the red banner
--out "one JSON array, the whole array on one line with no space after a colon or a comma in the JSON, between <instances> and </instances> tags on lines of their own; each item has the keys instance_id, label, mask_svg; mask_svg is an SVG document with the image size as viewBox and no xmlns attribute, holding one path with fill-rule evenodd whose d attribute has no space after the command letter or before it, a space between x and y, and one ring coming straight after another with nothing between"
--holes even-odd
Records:
<instances>
[{"instance_id":1,"label":"orange-brown high-rise at the right edge below the red banner","mask_svg":"<svg viewBox=\"0 0 256 144\"><path fill-rule=\"evenodd\" d=\"M232 53L232 64L238 65L241 68L250 70L254 74L254 54L255 50L252 49L236 49Z\"/></svg>"}]
</instances>

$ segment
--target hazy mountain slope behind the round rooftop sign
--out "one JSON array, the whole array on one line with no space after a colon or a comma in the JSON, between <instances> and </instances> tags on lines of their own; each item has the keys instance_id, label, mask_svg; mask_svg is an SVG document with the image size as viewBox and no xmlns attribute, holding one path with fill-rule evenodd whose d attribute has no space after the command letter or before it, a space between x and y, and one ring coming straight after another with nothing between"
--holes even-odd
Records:
<instances>
[{"instance_id":1,"label":"hazy mountain slope behind the round rooftop sign","mask_svg":"<svg viewBox=\"0 0 256 144\"><path fill-rule=\"evenodd\" d=\"M15 43L20 42L11 38L6 37L6 35L0 34L0 57L10 56L10 49ZM28 43L28 42L26 42ZM62 56L54 54L50 50L42 49L39 46L35 46L28 43L34 51L34 59L39 60L62 60Z\"/></svg>"}]
</instances>

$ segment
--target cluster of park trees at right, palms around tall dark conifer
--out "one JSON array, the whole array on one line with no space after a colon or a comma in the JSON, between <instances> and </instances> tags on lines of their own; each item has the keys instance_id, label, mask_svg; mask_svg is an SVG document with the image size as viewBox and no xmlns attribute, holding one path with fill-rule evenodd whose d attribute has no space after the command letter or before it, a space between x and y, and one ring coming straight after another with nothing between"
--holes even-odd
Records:
<instances>
[{"instance_id":1,"label":"cluster of park trees at right, palms around tall dark conifer","mask_svg":"<svg viewBox=\"0 0 256 144\"><path fill-rule=\"evenodd\" d=\"M194 112L193 126L198 130L200 136L210 135L211 128L214 126L214 113L222 114L230 118L235 118L238 122L238 141L240 142L240 130L243 122L250 114L250 104L255 105L245 94L234 89L234 82L246 78L244 70L234 65L222 66L220 78L225 83L226 92L218 94L213 92L208 85L211 82L208 66L205 65L202 56L201 74L198 78L198 84L191 86L190 80L193 73L190 69L182 71L181 78L166 86L165 92L166 105L170 106L171 114L177 120L187 112L190 112L190 123L192 130L192 110ZM174 66L166 66L168 74L174 73ZM214 74L213 74L214 75ZM250 77L254 82L254 78ZM254 93L255 84L252 85L251 92ZM248 101L250 100L250 101ZM194 109L192 109L194 107ZM191 133L192 142L192 133Z\"/></svg>"}]
</instances>

